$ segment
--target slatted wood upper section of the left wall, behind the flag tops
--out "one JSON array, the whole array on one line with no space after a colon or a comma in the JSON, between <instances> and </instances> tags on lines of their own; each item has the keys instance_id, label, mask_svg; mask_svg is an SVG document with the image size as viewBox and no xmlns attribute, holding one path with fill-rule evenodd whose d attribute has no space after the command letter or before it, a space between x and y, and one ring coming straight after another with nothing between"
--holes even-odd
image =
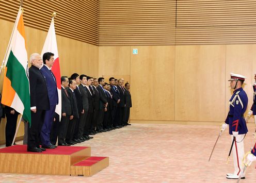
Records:
<instances>
[{"instance_id":1,"label":"slatted wood upper section of the left wall, behind the flag tops","mask_svg":"<svg viewBox=\"0 0 256 183\"><path fill-rule=\"evenodd\" d=\"M0 0L0 6L0 19L14 22L20 1ZM51 23L51 14L57 12L55 18L57 35L98 45L98 0L25 0L23 8L25 26L47 31Z\"/></svg>"}]
</instances>

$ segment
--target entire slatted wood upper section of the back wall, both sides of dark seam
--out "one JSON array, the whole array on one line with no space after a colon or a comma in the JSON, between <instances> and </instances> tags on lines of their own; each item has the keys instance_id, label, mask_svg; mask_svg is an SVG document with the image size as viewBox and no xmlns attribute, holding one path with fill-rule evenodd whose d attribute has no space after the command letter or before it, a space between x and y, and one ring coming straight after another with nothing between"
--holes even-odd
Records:
<instances>
[{"instance_id":1,"label":"entire slatted wood upper section of the back wall, both sides of dark seam","mask_svg":"<svg viewBox=\"0 0 256 183\"><path fill-rule=\"evenodd\" d=\"M99 45L256 43L254 0L99 0Z\"/></svg>"}]
</instances>

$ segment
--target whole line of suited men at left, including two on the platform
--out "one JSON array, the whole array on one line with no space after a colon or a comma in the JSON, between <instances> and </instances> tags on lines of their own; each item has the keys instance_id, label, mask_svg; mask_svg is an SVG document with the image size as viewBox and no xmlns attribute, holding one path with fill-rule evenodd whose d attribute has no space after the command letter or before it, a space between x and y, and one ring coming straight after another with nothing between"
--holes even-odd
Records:
<instances>
[{"instance_id":1,"label":"whole line of suited men at left, including two on the platform","mask_svg":"<svg viewBox=\"0 0 256 183\"><path fill-rule=\"evenodd\" d=\"M42 59L35 53L29 60L31 125L25 129L27 151L42 152L56 148L57 143L70 146L92 139L89 135L131 125L128 123L132 107L130 84L123 86L124 79L111 77L108 84L102 77L76 73L70 78L62 76L59 118L55 112L59 103L56 78L51 71L54 54L44 53ZM19 113L5 108L6 146L10 146Z\"/></svg>"}]
</instances>

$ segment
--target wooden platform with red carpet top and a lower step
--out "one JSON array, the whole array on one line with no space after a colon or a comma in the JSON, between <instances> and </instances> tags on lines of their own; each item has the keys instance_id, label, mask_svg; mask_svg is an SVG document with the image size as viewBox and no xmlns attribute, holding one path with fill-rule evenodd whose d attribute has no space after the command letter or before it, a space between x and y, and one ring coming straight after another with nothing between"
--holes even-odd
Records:
<instances>
[{"instance_id":1,"label":"wooden platform with red carpet top and a lower step","mask_svg":"<svg viewBox=\"0 0 256 183\"><path fill-rule=\"evenodd\" d=\"M0 173L92 176L108 166L108 157L91 157L90 147L58 146L42 153L26 145L0 149Z\"/></svg>"}]
</instances>

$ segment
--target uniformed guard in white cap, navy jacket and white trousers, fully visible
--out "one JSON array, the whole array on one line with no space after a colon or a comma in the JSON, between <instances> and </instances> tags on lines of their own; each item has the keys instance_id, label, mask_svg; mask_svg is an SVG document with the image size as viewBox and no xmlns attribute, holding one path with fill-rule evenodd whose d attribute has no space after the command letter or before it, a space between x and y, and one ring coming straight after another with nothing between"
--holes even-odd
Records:
<instances>
[{"instance_id":1,"label":"uniformed guard in white cap, navy jacket and white trousers, fully visible","mask_svg":"<svg viewBox=\"0 0 256 183\"><path fill-rule=\"evenodd\" d=\"M242 86L245 76L231 73L230 87L234 89L233 95L229 101L229 113L225 123L222 124L221 130L224 131L229 126L229 134L231 135L234 145L232 147L232 155L234 162L234 172L228 173L226 178L238 179L242 172L242 161L244 157L244 138L248 132L244 113L248 104L248 97ZM242 178L245 178L242 175Z\"/></svg>"}]
</instances>

